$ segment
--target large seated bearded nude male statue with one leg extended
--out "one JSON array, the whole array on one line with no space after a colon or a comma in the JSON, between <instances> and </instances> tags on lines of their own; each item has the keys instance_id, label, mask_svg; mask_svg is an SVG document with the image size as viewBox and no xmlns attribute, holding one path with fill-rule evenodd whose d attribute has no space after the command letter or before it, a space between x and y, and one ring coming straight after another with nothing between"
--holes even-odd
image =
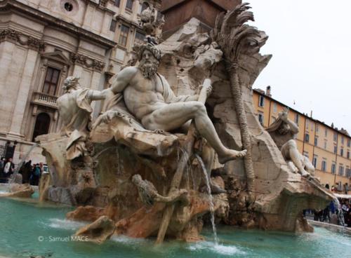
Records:
<instances>
[{"instance_id":1,"label":"large seated bearded nude male statue with one leg extended","mask_svg":"<svg viewBox=\"0 0 351 258\"><path fill-rule=\"evenodd\" d=\"M217 152L220 163L246 155L246 150L235 151L223 145L204 104L197 101L199 95L173 93L164 76L157 73L161 51L156 46L151 43L140 46L138 59L138 67L126 67L113 79L107 102L111 96L123 93L126 109L147 130L170 132L193 119L199 134ZM211 86L206 90L211 93Z\"/></svg>"}]
</instances>

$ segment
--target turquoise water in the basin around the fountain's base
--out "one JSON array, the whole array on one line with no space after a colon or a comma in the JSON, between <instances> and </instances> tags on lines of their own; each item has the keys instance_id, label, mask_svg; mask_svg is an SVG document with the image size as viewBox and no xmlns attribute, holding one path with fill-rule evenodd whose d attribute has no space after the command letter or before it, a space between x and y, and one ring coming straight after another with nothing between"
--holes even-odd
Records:
<instances>
[{"instance_id":1,"label":"turquoise water in the basin around the fountain's base","mask_svg":"<svg viewBox=\"0 0 351 258\"><path fill-rule=\"evenodd\" d=\"M351 257L351 236L316 228L314 233L291 233L218 229L219 245L204 230L207 241L173 241L154 247L153 240L116 237L102 245L74 242L70 236L84 223L69 222L71 208L40 205L35 199L0 198L0 257Z\"/></svg>"}]
</instances>

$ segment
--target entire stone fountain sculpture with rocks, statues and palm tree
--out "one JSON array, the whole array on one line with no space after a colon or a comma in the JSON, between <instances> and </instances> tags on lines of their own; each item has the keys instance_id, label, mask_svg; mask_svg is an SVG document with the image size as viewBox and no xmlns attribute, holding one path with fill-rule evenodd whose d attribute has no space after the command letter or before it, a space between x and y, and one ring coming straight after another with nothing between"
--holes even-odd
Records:
<instances>
[{"instance_id":1,"label":"entire stone fountain sculpture with rocks, statues and palm tree","mask_svg":"<svg viewBox=\"0 0 351 258\"><path fill-rule=\"evenodd\" d=\"M110 88L65 80L62 130L37 137L51 170L40 199L77 206L67 218L92 222L77 236L97 243L113 234L201 240L211 210L217 223L311 230L303 210L333 197L289 165L254 114L252 85L271 55L259 53L265 32L246 25L249 6L218 15L210 34L192 18L162 42L163 20L141 16L145 43ZM92 123L93 101L103 108Z\"/></svg>"}]
</instances>

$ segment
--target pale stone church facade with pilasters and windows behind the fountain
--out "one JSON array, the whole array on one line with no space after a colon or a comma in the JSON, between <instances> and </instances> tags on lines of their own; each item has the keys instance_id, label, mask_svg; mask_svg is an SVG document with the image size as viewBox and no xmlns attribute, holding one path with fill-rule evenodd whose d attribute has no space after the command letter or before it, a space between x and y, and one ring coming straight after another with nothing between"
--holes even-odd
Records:
<instances>
[{"instance_id":1,"label":"pale stone church facade with pilasters and windows behind the fountain","mask_svg":"<svg viewBox=\"0 0 351 258\"><path fill-rule=\"evenodd\" d=\"M157 15L161 1L0 0L0 156L45 162L34 139L58 132L63 81L107 88L143 41L138 18L147 7Z\"/></svg>"}]
</instances>

